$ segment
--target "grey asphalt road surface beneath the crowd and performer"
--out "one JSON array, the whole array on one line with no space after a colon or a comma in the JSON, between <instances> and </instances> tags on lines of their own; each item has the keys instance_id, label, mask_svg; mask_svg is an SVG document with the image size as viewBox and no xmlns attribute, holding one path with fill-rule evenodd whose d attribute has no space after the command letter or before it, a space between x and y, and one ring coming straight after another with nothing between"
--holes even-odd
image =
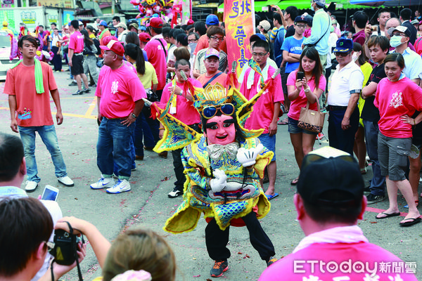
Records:
<instances>
[{"instance_id":1,"label":"grey asphalt road surface beneath the crowd and performer","mask_svg":"<svg viewBox=\"0 0 422 281\"><path fill-rule=\"evenodd\" d=\"M63 109L64 122L56 126L58 142L63 152L69 176L75 181L75 187L66 188L56 181L54 167L49 152L41 139L37 137L37 164L40 187L31 197L41 195L44 185L59 188L58 203L64 216L83 218L94 225L112 241L127 228L151 228L167 237L177 256L177 280L207 280L213 261L207 256L205 248L205 221L200 220L195 230L190 233L173 235L162 230L165 221L181 203L181 197L170 199L167 193L173 188L174 172L172 157L161 159L155 152L145 152L143 161L136 162L136 171L131 178L132 190L120 195L110 195L106 190L91 190L89 184L98 180L100 171L96 166L96 141L98 126L96 124L96 98L94 89L83 96L72 96L77 90L70 83L69 72L54 73L60 90L60 100ZM3 93L4 82L0 83L0 93ZM0 96L0 131L13 133L9 128L10 114L8 97ZM51 100L51 111L56 112ZM326 133L327 128L324 128ZM326 139L314 148L328 145ZM298 221L295 221L293 195L295 188L290 181L298 176L299 169L295 162L293 146L287 126L279 126L276 141L277 177L276 192L280 196L271 201L270 213L261 220L274 247L276 257L290 254L304 237ZM371 178L371 169L364 176L366 181ZM24 187L25 185L23 185ZM400 211L404 209L404 199L399 196ZM422 223L410 228L400 228L402 218L375 220L378 211L388 208L388 201L370 205L364 220L359 221L370 242L392 251L400 259L416 262L416 275L422 280L421 244ZM402 216L405 216L402 213ZM260 260L257 251L250 246L248 231L245 228L231 228L229 249L229 270L224 273L227 280L257 280L266 268ZM101 275L92 248L88 247L87 258L82 262L84 280L92 280ZM72 270L62 280L77 280L76 271Z\"/></svg>"}]
</instances>

